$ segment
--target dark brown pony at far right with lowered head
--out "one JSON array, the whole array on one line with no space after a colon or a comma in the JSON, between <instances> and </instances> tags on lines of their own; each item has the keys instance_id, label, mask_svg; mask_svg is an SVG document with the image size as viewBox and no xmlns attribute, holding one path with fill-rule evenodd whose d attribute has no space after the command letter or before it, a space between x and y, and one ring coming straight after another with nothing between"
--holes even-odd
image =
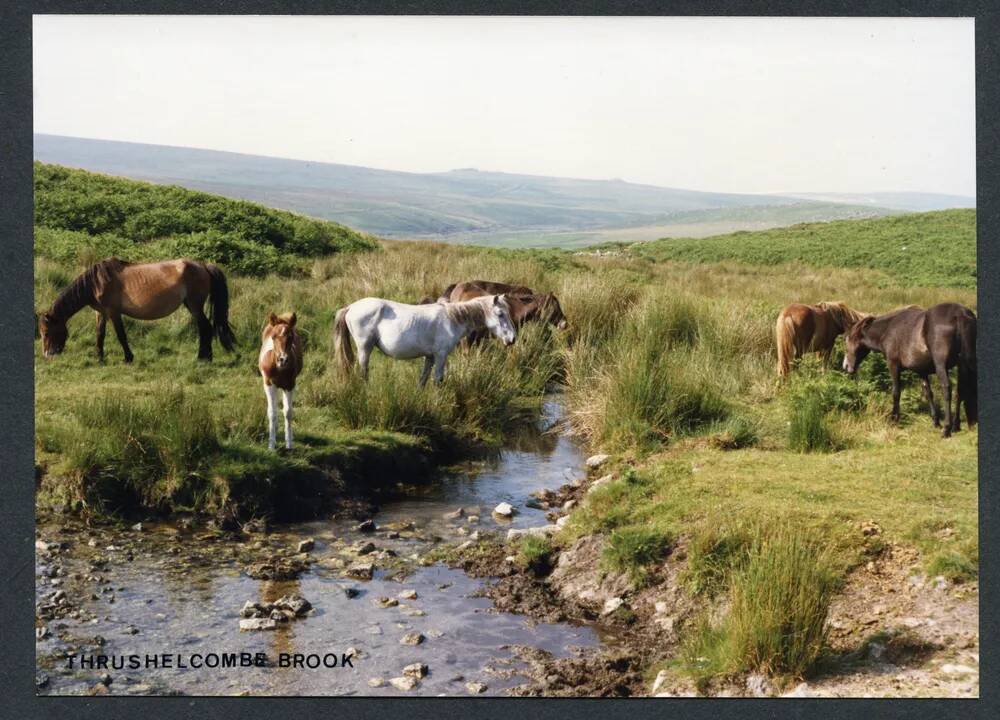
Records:
<instances>
[{"instance_id":1,"label":"dark brown pony at far right with lowered head","mask_svg":"<svg viewBox=\"0 0 1000 720\"><path fill-rule=\"evenodd\" d=\"M923 384L924 397L930 405L934 427L940 427L937 405L931 394L930 375L934 373L944 396L944 429L948 437L961 426L960 414L965 404L969 427L979 419L976 379L976 316L957 303L941 303L927 310L916 305L894 310L887 315L866 317L847 333L844 370L857 372L858 365L872 350L885 355L892 376L892 419L899 420L899 373L912 370ZM948 371L958 366L958 399L951 412L951 379Z\"/></svg>"}]
</instances>

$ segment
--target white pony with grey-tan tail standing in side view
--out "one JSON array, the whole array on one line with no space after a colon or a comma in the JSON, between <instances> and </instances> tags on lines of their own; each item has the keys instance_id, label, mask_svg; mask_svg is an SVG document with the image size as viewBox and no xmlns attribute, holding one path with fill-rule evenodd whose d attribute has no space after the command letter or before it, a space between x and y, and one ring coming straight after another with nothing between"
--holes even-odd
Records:
<instances>
[{"instance_id":1,"label":"white pony with grey-tan tail standing in side view","mask_svg":"<svg viewBox=\"0 0 1000 720\"><path fill-rule=\"evenodd\" d=\"M444 365L459 341L471 332L487 329L513 345L517 337L510 319L510 305L504 295L457 303L407 305L381 298L364 298L337 311L333 322L333 348L341 368L354 364L351 338L358 346L361 376L368 378L368 361L373 348L398 360L424 358L420 374L423 387L434 368L434 382L444 379Z\"/></svg>"}]
</instances>

